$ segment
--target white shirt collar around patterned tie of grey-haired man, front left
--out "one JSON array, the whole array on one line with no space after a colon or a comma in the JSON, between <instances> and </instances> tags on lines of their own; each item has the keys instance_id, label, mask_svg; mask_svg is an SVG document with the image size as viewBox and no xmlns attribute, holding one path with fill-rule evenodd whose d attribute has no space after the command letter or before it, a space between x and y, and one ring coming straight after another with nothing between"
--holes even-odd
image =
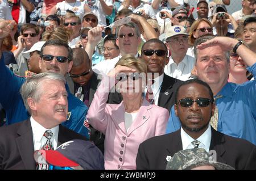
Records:
<instances>
[{"instance_id":1,"label":"white shirt collar around patterned tie of grey-haired man, front left","mask_svg":"<svg viewBox=\"0 0 256 181\"><path fill-rule=\"evenodd\" d=\"M43 134L44 134L44 132L46 132L46 130L51 130L52 134L53 134L53 139L57 140L57 137L59 134L59 125L57 125L54 128L51 128L51 129L46 129L42 125L40 125L38 122L36 122L36 120L32 116L30 117L30 123L31 123L31 127L32 127L34 140L41 141L43 138Z\"/></svg>"}]
</instances>

